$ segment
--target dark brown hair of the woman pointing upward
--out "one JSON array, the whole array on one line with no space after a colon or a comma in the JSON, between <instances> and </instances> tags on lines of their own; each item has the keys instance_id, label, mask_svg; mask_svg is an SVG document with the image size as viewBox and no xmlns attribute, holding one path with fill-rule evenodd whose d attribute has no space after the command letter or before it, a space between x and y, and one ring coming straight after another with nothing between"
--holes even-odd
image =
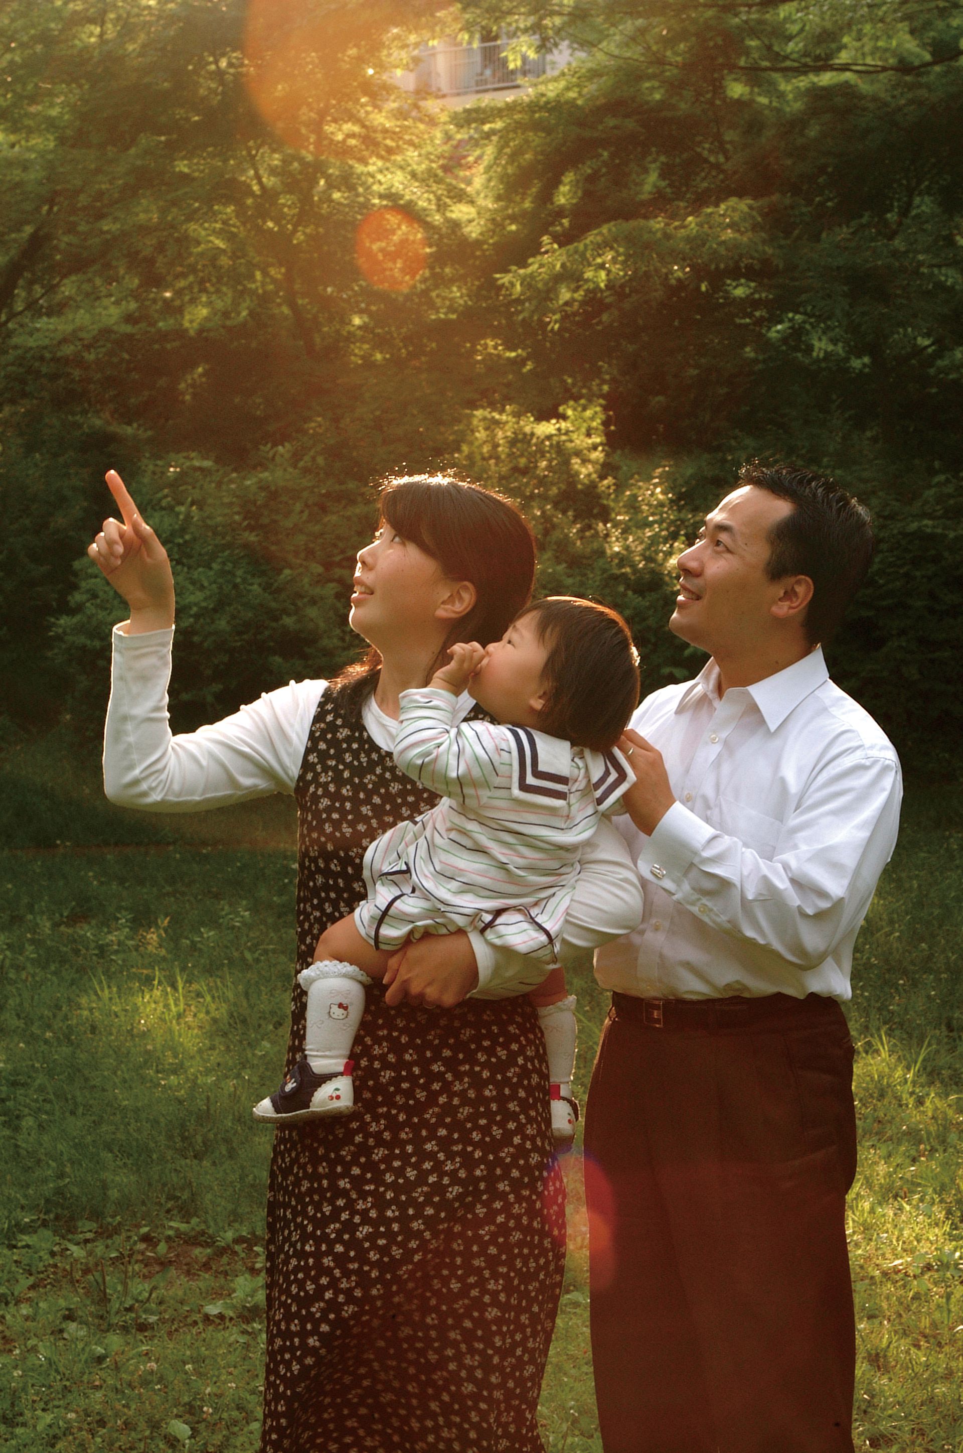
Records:
<instances>
[{"instance_id":1,"label":"dark brown hair of the woman pointing upward","mask_svg":"<svg viewBox=\"0 0 963 1453\"><path fill-rule=\"evenodd\" d=\"M476 590L475 604L452 622L431 670L456 641L488 645L504 635L535 583L535 538L521 511L478 484L427 474L389 479L379 504L382 525L436 559L450 580L469 580ZM331 686L360 709L379 670L381 652L370 647Z\"/></svg>"}]
</instances>

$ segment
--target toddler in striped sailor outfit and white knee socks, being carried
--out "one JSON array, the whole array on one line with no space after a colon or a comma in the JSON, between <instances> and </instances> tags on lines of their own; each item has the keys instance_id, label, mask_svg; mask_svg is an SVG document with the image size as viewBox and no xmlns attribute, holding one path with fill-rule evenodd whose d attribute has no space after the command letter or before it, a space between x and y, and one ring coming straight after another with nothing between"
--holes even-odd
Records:
<instances>
[{"instance_id":1,"label":"toddler in striped sailor outfit and white knee socks, being carried","mask_svg":"<svg viewBox=\"0 0 963 1453\"><path fill-rule=\"evenodd\" d=\"M568 596L527 606L501 641L452 647L427 687L399 697L395 761L443 801L365 853L367 898L318 940L304 969L305 1053L254 1117L289 1125L354 1106L352 1045L365 985L423 933L478 930L532 955L546 978L530 994L549 1061L552 1133L571 1142L575 1000L558 940L578 853L635 780L614 750L639 695L629 628ZM494 718L453 725L468 690Z\"/></svg>"}]
</instances>

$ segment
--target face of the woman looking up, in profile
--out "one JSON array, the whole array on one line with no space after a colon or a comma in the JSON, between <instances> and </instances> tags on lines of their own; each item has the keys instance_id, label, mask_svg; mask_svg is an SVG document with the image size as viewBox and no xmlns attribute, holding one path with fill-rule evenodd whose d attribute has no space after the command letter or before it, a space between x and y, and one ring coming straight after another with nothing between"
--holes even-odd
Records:
<instances>
[{"instance_id":1,"label":"face of the woman looking up, in profile","mask_svg":"<svg viewBox=\"0 0 963 1453\"><path fill-rule=\"evenodd\" d=\"M352 631L385 654L394 644L407 649L424 639L444 639L452 618L439 610L455 583L418 545L382 522L370 545L357 552L352 590Z\"/></svg>"}]
</instances>

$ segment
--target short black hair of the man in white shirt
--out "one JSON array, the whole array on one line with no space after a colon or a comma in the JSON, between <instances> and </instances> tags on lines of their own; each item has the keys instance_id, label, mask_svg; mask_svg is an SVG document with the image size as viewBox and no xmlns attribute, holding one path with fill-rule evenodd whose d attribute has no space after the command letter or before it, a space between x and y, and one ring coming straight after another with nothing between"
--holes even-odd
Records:
<instances>
[{"instance_id":1,"label":"short black hair of the man in white shirt","mask_svg":"<svg viewBox=\"0 0 963 1453\"><path fill-rule=\"evenodd\" d=\"M795 506L768 533L765 574L770 580L809 575L812 600L803 628L810 645L825 645L870 568L874 545L870 511L826 475L789 464L752 459L739 469L739 482L768 490Z\"/></svg>"}]
</instances>

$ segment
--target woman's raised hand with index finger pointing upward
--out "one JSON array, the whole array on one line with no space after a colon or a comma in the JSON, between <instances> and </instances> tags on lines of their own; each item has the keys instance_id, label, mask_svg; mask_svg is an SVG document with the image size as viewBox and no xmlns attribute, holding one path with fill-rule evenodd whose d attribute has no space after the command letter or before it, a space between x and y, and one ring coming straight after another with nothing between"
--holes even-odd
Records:
<instances>
[{"instance_id":1,"label":"woman's raised hand with index finger pointing upward","mask_svg":"<svg viewBox=\"0 0 963 1453\"><path fill-rule=\"evenodd\" d=\"M125 635L166 631L174 623L174 577L167 551L141 519L116 469L107 469L105 478L123 523L106 519L87 555L131 607L131 619L121 628Z\"/></svg>"}]
</instances>

